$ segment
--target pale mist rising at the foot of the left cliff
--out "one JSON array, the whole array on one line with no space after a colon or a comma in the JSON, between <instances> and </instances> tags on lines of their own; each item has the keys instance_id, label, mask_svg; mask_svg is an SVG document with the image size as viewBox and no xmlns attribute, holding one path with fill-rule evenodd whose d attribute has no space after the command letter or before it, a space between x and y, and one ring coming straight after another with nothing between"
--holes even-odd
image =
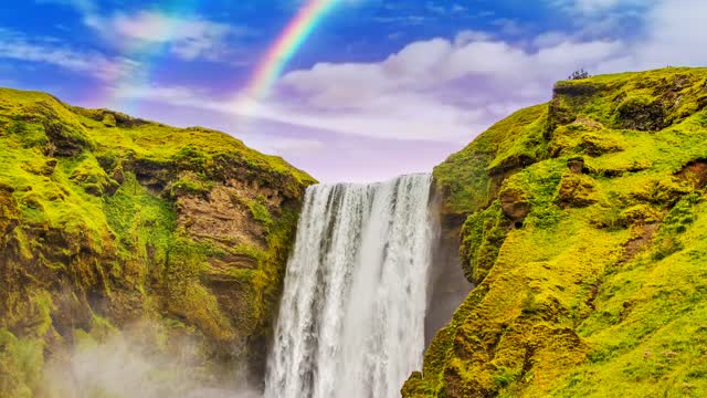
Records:
<instances>
[{"instance_id":1,"label":"pale mist rising at the foot of the left cliff","mask_svg":"<svg viewBox=\"0 0 707 398\"><path fill-rule=\"evenodd\" d=\"M49 362L48 398L260 398L240 369L214 370L189 337L155 338L155 325L114 332L96 343L80 335L71 353Z\"/></svg>"}]
</instances>

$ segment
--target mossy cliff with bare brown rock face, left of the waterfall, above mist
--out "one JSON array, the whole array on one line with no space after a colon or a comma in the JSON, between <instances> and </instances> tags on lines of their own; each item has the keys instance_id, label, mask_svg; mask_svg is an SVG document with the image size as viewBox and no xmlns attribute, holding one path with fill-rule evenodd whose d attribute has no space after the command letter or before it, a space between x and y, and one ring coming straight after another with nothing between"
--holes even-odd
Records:
<instances>
[{"instance_id":1,"label":"mossy cliff with bare brown rock face, left of the waterfall, above mist","mask_svg":"<svg viewBox=\"0 0 707 398\"><path fill-rule=\"evenodd\" d=\"M219 132L0 88L0 396L134 324L257 373L314 182Z\"/></svg>"}]
</instances>

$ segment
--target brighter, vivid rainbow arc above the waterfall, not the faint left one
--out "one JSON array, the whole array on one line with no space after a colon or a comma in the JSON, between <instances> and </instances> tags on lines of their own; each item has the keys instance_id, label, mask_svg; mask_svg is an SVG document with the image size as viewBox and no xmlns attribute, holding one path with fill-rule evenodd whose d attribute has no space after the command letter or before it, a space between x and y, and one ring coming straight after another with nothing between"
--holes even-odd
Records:
<instances>
[{"instance_id":1,"label":"brighter, vivid rainbow arc above the waterfall, not the faint left one","mask_svg":"<svg viewBox=\"0 0 707 398\"><path fill-rule=\"evenodd\" d=\"M257 101L270 94L287 62L338 0L307 0L275 40L250 78L241 101Z\"/></svg>"}]
</instances>

